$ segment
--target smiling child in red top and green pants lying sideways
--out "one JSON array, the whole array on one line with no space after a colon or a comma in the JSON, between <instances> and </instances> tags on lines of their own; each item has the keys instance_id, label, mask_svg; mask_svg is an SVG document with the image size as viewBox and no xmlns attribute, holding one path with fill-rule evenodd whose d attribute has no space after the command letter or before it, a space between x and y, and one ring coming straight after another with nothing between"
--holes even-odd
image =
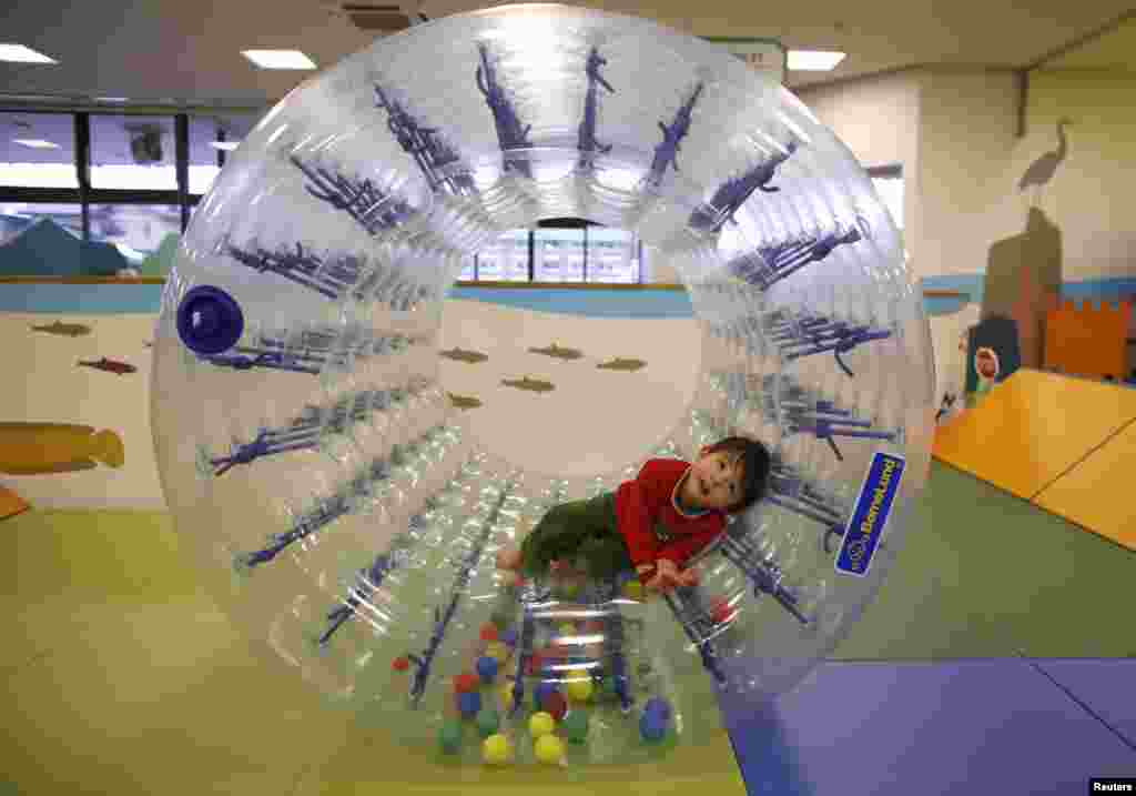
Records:
<instances>
[{"instance_id":1,"label":"smiling child in red top and green pants lying sideways","mask_svg":"<svg viewBox=\"0 0 1136 796\"><path fill-rule=\"evenodd\" d=\"M769 451L743 437L702 448L693 464L650 459L615 492L552 507L496 564L527 577L553 563L582 565L592 578L634 569L652 591L694 586L683 564L725 530L727 514L760 500L768 479Z\"/></svg>"}]
</instances>

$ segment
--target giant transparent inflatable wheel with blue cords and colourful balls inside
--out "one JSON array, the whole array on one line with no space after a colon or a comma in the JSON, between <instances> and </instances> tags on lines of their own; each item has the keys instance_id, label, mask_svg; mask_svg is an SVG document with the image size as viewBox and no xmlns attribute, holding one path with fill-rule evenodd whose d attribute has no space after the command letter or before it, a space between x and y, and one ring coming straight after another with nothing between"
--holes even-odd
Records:
<instances>
[{"instance_id":1,"label":"giant transparent inflatable wheel with blue cords and colourful balls inside","mask_svg":"<svg viewBox=\"0 0 1136 796\"><path fill-rule=\"evenodd\" d=\"M463 262L561 216L636 231L704 338L666 445L585 481L473 443L438 384ZM926 478L932 370L894 224L793 94L650 22L501 7L376 42L241 144L162 297L153 428L201 580L266 665L440 755L625 763L845 637ZM729 434L769 447L769 492L698 587L496 571L550 506Z\"/></svg>"}]
</instances>

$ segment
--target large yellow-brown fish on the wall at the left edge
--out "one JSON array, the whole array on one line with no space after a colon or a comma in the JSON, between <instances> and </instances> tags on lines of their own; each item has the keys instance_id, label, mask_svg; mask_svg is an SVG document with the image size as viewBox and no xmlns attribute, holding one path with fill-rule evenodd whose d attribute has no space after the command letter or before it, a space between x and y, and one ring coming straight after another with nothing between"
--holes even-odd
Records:
<instances>
[{"instance_id":1,"label":"large yellow-brown fish on the wall at the left edge","mask_svg":"<svg viewBox=\"0 0 1136 796\"><path fill-rule=\"evenodd\" d=\"M123 440L114 431L70 423L0 423L0 473L45 475L122 467Z\"/></svg>"}]
</instances>

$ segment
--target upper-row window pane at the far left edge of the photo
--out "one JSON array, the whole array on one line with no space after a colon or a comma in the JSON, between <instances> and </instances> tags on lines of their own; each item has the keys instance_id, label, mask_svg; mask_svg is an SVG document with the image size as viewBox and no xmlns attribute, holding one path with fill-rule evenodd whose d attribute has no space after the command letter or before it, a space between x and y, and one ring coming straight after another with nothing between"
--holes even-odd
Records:
<instances>
[{"instance_id":1,"label":"upper-row window pane at the far left edge of the photo","mask_svg":"<svg viewBox=\"0 0 1136 796\"><path fill-rule=\"evenodd\" d=\"M0 185L77 189L75 117L0 111Z\"/></svg>"}]
</instances>

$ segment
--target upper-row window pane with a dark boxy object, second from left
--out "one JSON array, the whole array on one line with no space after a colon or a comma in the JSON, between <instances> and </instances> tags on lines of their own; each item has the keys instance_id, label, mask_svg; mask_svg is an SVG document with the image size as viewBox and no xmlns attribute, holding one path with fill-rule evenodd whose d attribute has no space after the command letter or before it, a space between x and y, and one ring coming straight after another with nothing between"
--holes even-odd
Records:
<instances>
[{"instance_id":1,"label":"upper-row window pane with a dark boxy object, second from left","mask_svg":"<svg viewBox=\"0 0 1136 796\"><path fill-rule=\"evenodd\" d=\"M177 190L173 116L91 115L91 188Z\"/></svg>"}]
</instances>

